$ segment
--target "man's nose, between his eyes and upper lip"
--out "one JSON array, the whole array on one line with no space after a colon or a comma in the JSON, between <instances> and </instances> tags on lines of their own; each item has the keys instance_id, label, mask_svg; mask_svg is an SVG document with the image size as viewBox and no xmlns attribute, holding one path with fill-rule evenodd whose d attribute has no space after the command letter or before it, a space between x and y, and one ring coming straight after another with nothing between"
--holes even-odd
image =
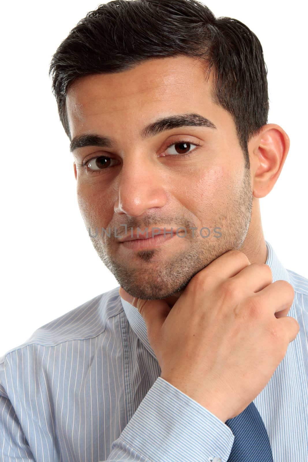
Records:
<instances>
[{"instance_id":1,"label":"man's nose, between his eyes and upper lip","mask_svg":"<svg viewBox=\"0 0 308 462\"><path fill-rule=\"evenodd\" d=\"M154 207L163 207L168 200L162 166L150 159L123 162L119 174L115 213L131 217L142 215Z\"/></svg>"}]
</instances>

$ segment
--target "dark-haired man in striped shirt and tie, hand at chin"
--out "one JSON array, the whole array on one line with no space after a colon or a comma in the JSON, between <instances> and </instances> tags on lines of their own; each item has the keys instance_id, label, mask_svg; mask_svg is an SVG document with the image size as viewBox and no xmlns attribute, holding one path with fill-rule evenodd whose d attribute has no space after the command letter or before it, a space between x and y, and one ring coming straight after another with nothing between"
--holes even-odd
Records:
<instances>
[{"instance_id":1,"label":"dark-haired man in striped shirt and tie, hand at chin","mask_svg":"<svg viewBox=\"0 0 308 462\"><path fill-rule=\"evenodd\" d=\"M50 73L121 296L0 359L1 461L306 460L308 280L262 231L290 141L258 38L197 1L116 0Z\"/></svg>"}]
</instances>

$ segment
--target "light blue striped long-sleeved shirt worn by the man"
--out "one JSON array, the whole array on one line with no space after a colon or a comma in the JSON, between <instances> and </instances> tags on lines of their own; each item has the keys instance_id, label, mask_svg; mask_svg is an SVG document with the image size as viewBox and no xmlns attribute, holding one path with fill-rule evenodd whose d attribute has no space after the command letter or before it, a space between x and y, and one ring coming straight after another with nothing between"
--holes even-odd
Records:
<instances>
[{"instance_id":1,"label":"light blue striped long-sleeved shirt worn by the man","mask_svg":"<svg viewBox=\"0 0 308 462\"><path fill-rule=\"evenodd\" d=\"M295 291L300 331L254 399L274 462L308 461L308 279L266 241L273 282ZM163 380L139 311L119 287L37 329L0 358L0 461L228 460L234 435ZM258 462L258 461L256 461Z\"/></svg>"}]
</instances>

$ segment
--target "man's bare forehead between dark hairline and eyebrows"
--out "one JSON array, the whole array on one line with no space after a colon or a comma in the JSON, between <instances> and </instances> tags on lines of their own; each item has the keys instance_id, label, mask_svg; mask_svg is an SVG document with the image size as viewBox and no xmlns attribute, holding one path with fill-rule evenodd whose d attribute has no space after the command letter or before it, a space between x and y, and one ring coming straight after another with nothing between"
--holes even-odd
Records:
<instances>
[{"instance_id":1,"label":"man's bare forehead between dark hairline and eyebrows","mask_svg":"<svg viewBox=\"0 0 308 462\"><path fill-rule=\"evenodd\" d=\"M66 107L70 127L88 117L104 113L124 113L138 109L139 114L158 103L187 101L211 103L211 76L207 65L187 56L143 61L134 68L117 73L91 74L75 80L67 91ZM175 108L174 108L175 109Z\"/></svg>"}]
</instances>

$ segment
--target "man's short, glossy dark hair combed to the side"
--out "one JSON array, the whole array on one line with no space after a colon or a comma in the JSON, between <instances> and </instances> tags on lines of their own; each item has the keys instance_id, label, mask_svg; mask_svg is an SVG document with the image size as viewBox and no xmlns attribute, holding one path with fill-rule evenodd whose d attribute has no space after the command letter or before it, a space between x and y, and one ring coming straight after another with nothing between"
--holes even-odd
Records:
<instances>
[{"instance_id":1,"label":"man's short, glossy dark hair combed to the side","mask_svg":"<svg viewBox=\"0 0 308 462\"><path fill-rule=\"evenodd\" d=\"M71 140L66 92L79 77L116 73L152 58L186 55L213 70L212 99L233 117L249 168L248 141L267 124L267 67L258 37L241 21L215 18L197 0L113 0L88 12L50 62L60 121Z\"/></svg>"}]
</instances>

